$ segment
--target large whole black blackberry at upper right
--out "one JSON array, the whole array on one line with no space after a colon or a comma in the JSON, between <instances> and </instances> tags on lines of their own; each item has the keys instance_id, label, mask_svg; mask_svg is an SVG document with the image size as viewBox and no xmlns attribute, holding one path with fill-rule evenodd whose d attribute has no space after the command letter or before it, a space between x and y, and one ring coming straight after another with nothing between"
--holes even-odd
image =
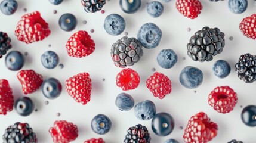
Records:
<instances>
[{"instance_id":1,"label":"large whole black blackberry at upper right","mask_svg":"<svg viewBox=\"0 0 256 143\"><path fill-rule=\"evenodd\" d=\"M187 43L187 55L194 61L211 61L225 46L224 33L218 28L203 27Z\"/></svg>"}]
</instances>

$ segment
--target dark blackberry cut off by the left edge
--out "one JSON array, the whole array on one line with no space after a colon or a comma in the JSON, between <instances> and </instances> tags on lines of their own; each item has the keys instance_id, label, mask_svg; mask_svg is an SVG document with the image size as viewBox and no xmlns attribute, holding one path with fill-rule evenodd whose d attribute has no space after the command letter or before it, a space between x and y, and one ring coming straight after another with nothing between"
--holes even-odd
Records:
<instances>
[{"instance_id":1,"label":"dark blackberry cut off by the left edge","mask_svg":"<svg viewBox=\"0 0 256 143\"><path fill-rule=\"evenodd\" d=\"M8 49L11 49L11 38L7 33L0 32L0 58L6 54Z\"/></svg>"}]
</instances>

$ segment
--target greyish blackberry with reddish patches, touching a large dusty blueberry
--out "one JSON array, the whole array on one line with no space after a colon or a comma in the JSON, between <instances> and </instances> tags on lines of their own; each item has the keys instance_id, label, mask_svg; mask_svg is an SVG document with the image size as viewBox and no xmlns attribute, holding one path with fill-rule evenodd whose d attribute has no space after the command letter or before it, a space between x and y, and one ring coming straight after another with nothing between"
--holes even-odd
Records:
<instances>
[{"instance_id":1,"label":"greyish blackberry with reddish patches, touching a large dusty blueberry","mask_svg":"<svg viewBox=\"0 0 256 143\"><path fill-rule=\"evenodd\" d=\"M136 38L122 37L111 48L111 57L117 67L132 66L143 56L141 43Z\"/></svg>"}]
</instances>

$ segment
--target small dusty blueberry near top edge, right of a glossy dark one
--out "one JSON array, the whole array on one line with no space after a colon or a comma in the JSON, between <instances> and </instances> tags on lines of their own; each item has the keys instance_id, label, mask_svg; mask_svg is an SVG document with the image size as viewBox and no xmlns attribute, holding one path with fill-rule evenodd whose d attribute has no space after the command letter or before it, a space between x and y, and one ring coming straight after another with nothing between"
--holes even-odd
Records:
<instances>
[{"instance_id":1,"label":"small dusty blueberry near top edge, right of a glossy dark one","mask_svg":"<svg viewBox=\"0 0 256 143\"><path fill-rule=\"evenodd\" d=\"M163 5L158 1L152 1L147 4L147 13L152 17L159 17L163 11Z\"/></svg>"}]
</instances>

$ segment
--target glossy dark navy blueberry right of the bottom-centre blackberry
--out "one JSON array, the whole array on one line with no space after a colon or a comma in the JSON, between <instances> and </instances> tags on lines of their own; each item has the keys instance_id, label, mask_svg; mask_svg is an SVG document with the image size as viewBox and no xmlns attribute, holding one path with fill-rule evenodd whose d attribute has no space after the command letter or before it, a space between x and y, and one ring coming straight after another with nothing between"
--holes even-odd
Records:
<instances>
[{"instance_id":1,"label":"glossy dark navy blueberry right of the bottom-centre blackberry","mask_svg":"<svg viewBox=\"0 0 256 143\"><path fill-rule=\"evenodd\" d=\"M158 113L153 117L151 127L158 136L169 135L174 129L174 119L168 113Z\"/></svg>"}]
</instances>

